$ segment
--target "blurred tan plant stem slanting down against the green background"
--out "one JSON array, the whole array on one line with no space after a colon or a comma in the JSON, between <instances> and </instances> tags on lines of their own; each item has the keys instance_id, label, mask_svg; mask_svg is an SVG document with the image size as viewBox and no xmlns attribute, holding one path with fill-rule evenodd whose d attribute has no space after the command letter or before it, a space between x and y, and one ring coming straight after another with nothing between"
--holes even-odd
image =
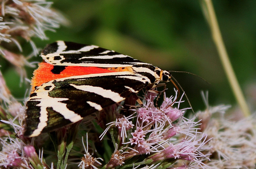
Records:
<instances>
[{"instance_id":1,"label":"blurred tan plant stem slanting down against the green background","mask_svg":"<svg viewBox=\"0 0 256 169\"><path fill-rule=\"evenodd\" d=\"M224 45L224 42L222 39L222 35L220 33L220 28L218 26L218 22L216 19L212 1L211 0L201 0L201 2L202 2L201 3L202 10L203 10L204 15L208 21L209 26L210 26L210 29L212 32L212 38L213 38L216 48L218 50L218 54L219 54L220 60L222 62L222 66L224 67L224 71L226 73L226 76L227 76L230 86L232 88L232 91L234 93L236 101L238 102L240 108L242 109L244 116L246 116L246 117L250 116L250 110L248 108L248 105L246 104L244 95L242 93L240 85L238 84L236 75L234 73L234 70L230 63L230 60L228 58L228 53L226 51L226 48L225 48L225 45Z\"/></svg>"}]
</instances>

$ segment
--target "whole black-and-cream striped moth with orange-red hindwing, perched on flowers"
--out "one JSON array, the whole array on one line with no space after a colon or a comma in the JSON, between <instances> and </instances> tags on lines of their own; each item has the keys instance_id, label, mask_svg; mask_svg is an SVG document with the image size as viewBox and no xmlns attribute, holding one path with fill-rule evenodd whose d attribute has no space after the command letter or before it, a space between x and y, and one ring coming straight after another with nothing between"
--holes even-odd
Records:
<instances>
[{"instance_id":1,"label":"whole black-and-cream striped moth with orange-red hindwing, perched on flowers","mask_svg":"<svg viewBox=\"0 0 256 169\"><path fill-rule=\"evenodd\" d=\"M168 71L94 45L57 41L41 57L26 104L26 137L78 122L171 79Z\"/></svg>"}]
</instances>

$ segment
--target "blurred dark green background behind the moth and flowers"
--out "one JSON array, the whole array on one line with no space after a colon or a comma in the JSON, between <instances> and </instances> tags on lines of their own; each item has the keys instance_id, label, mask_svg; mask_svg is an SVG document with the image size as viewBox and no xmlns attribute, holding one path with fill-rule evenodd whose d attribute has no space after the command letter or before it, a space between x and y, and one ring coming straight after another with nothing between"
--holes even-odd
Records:
<instances>
[{"instance_id":1,"label":"blurred dark green background behind the moth and flowers","mask_svg":"<svg viewBox=\"0 0 256 169\"><path fill-rule=\"evenodd\" d=\"M69 20L48 41L33 39L43 48L56 40L94 44L152 63L172 73L195 110L205 106L200 91L209 91L210 105L236 105L204 19L199 0L54 0L53 7ZM216 16L231 63L247 99L256 84L256 1L213 0ZM29 44L24 49L31 50ZM40 57L32 60L41 61ZM29 84L20 87L14 68L0 59L7 85L24 98ZM28 78L34 69L28 69ZM171 83L167 85L173 94Z\"/></svg>"}]
</instances>

